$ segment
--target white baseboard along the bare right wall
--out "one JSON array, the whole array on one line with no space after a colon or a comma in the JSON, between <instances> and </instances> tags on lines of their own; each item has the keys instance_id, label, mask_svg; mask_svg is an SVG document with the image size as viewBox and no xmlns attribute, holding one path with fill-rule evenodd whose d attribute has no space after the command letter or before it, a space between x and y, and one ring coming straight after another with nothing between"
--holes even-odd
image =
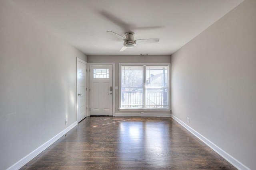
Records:
<instances>
[{"instance_id":1,"label":"white baseboard along the bare right wall","mask_svg":"<svg viewBox=\"0 0 256 170\"><path fill-rule=\"evenodd\" d=\"M227 152L225 152L223 149L221 149L220 147L218 147L217 145L215 145L214 143L212 143L211 141L209 141L207 138L205 138L203 135L201 135L200 133L198 133L197 131L195 131L194 129L192 129L191 127L189 127L188 125L186 125L186 123L184 123L183 121L181 121L180 119L178 119L176 116L171 114L171 117L177 121L178 123L180 123L180 125L182 125L183 127L185 127L188 131L190 131L193 135L195 135L198 139L200 139L203 143L205 143L206 145L208 145L208 147L210 147L212 150L214 150L215 152L217 152L220 156L222 156L222 158L226 159L230 164L232 164L234 167L236 167L238 170L250 170L250 168L248 168L247 166L245 166L244 164L242 164L240 161L238 161L236 158L234 158L233 156L231 156L230 154L228 154Z\"/></svg>"}]
</instances>

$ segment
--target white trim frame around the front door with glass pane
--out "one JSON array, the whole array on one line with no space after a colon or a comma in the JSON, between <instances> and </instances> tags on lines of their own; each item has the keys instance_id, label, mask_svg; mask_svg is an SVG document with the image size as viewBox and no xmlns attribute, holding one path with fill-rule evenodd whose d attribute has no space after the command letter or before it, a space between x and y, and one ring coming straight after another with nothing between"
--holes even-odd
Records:
<instances>
[{"instance_id":1,"label":"white trim frame around the front door with glass pane","mask_svg":"<svg viewBox=\"0 0 256 170\"><path fill-rule=\"evenodd\" d=\"M113 98L112 98L112 115L115 116L116 114L116 90L115 90L115 63L88 63L88 68L90 69L91 65L112 65L112 86L113 86ZM90 89L90 71L87 72L88 76L88 87ZM89 95L88 95L88 108L90 108L90 90L89 90ZM88 110L88 116L91 115L90 109Z\"/></svg>"}]
</instances>

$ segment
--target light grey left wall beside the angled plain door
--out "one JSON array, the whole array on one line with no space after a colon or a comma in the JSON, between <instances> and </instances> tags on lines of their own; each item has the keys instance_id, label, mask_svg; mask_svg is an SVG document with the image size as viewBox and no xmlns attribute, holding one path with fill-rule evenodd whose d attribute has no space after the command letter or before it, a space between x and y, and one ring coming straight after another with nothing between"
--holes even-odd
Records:
<instances>
[{"instance_id":1,"label":"light grey left wall beside the angled plain door","mask_svg":"<svg viewBox=\"0 0 256 170\"><path fill-rule=\"evenodd\" d=\"M1 170L76 122L76 57L86 61L78 49L0 0Z\"/></svg>"}]
</instances>

